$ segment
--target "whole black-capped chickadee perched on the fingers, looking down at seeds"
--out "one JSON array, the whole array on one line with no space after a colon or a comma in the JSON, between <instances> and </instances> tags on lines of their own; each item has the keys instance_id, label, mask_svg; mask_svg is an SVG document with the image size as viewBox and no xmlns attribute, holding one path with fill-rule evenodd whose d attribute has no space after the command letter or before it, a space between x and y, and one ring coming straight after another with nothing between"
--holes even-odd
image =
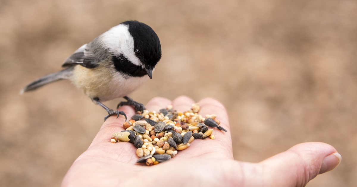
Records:
<instances>
[{"instance_id":1,"label":"whole black-capped chickadee perched on the fingers, looking down at seeds","mask_svg":"<svg viewBox=\"0 0 357 187\"><path fill-rule=\"evenodd\" d=\"M69 56L62 71L41 77L21 90L21 94L61 79L70 79L92 101L103 107L108 115L123 111L112 110L101 102L123 97L126 102L143 111L144 105L126 95L140 88L149 78L161 58L161 45L151 27L139 21L124 21L93 41L81 46Z\"/></svg>"}]
</instances>

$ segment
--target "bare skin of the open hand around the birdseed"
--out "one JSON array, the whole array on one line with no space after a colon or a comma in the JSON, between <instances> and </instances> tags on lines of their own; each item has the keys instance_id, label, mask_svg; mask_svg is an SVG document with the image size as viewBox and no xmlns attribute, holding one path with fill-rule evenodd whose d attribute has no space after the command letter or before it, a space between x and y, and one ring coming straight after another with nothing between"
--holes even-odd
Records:
<instances>
[{"instance_id":1,"label":"bare skin of the open hand around the birdseed","mask_svg":"<svg viewBox=\"0 0 357 187\"><path fill-rule=\"evenodd\" d=\"M159 111L172 104L174 110L186 111L195 103L180 96L172 102L153 98L147 110ZM111 143L112 133L125 130L124 116L108 118L92 144L67 171L62 187L77 186L241 186L241 187L299 187L305 186L318 174L333 170L341 155L331 145L306 142L295 145L259 163L233 159L232 140L225 107L215 99L200 100L200 114L216 114L220 126L214 128L215 140L196 139L191 146L170 161L154 166L136 163L136 147L129 142ZM120 107L127 116L135 114L130 106Z\"/></svg>"}]
</instances>

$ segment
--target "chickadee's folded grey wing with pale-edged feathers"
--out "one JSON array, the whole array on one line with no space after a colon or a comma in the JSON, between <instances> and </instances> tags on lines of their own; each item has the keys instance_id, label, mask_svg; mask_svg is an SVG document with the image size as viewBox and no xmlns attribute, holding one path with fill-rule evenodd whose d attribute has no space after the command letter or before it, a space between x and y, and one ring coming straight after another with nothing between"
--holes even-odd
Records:
<instances>
[{"instance_id":1,"label":"chickadee's folded grey wing with pale-edged feathers","mask_svg":"<svg viewBox=\"0 0 357 187\"><path fill-rule=\"evenodd\" d=\"M71 66L75 64L80 64L86 68L95 68L97 67L100 59L97 59L96 56L89 50L90 43L82 45L78 48L71 56L69 56L65 62L62 64L62 67Z\"/></svg>"}]
</instances>

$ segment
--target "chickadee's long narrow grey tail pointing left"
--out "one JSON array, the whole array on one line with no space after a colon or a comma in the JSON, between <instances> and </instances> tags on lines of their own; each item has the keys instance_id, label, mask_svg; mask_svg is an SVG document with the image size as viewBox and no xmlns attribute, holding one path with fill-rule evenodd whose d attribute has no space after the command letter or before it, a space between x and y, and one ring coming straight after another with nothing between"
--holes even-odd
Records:
<instances>
[{"instance_id":1,"label":"chickadee's long narrow grey tail pointing left","mask_svg":"<svg viewBox=\"0 0 357 187\"><path fill-rule=\"evenodd\" d=\"M35 90L45 84L55 82L57 80L68 79L73 74L72 73L73 68L74 67L71 66L66 69L63 69L62 71L52 73L52 74L43 76L39 79L36 79L34 82L28 84L25 88L22 88L22 90L20 91L20 94L23 94L24 92L27 92L27 91Z\"/></svg>"}]
</instances>

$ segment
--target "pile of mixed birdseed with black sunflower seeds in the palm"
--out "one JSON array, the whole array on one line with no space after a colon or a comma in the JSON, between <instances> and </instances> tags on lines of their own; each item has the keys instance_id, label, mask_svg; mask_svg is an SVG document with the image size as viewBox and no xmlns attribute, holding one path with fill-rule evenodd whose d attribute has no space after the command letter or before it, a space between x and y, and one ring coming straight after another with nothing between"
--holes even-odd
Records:
<instances>
[{"instance_id":1,"label":"pile of mixed birdseed with black sunflower seeds in the palm","mask_svg":"<svg viewBox=\"0 0 357 187\"><path fill-rule=\"evenodd\" d=\"M214 140L213 129L208 127L227 132L218 126L220 121L215 119L215 114L207 114L203 118L198 111L198 103L192 104L191 110L185 112L172 111L172 105L161 109L160 113L144 110L140 114L139 111L129 122L123 123L126 130L113 133L110 141L133 143L137 148L136 155L140 157L136 162L156 165L170 160L178 151L189 147L194 139L208 137Z\"/></svg>"}]
</instances>

